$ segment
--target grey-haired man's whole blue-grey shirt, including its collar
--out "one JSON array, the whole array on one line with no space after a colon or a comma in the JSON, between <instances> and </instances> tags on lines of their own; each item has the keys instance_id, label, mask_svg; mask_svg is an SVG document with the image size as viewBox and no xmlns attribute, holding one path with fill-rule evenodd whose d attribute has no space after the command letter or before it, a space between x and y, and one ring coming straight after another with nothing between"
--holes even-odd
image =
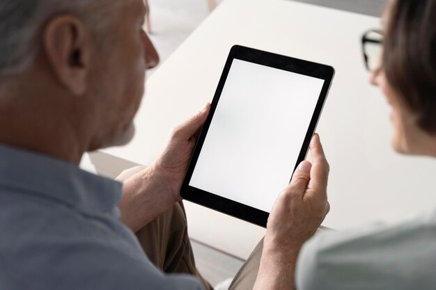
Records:
<instances>
[{"instance_id":1,"label":"grey-haired man's whole blue-grey shirt, including its collar","mask_svg":"<svg viewBox=\"0 0 436 290\"><path fill-rule=\"evenodd\" d=\"M166 275L119 221L122 184L0 145L0 289L199 290Z\"/></svg>"}]
</instances>

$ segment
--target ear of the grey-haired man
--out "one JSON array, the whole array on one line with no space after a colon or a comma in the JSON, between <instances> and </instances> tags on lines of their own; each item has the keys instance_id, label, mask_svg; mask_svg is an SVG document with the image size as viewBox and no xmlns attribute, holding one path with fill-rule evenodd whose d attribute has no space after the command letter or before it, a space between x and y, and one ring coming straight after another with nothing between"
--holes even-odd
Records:
<instances>
[{"instance_id":1,"label":"ear of the grey-haired man","mask_svg":"<svg viewBox=\"0 0 436 290\"><path fill-rule=\"evenodd\" d=\"M43 45L61 86L74 95L83 95L93 49L91 33L84 23L69 15L54 17L45 26Z\"/></svg>"}]
</instances>

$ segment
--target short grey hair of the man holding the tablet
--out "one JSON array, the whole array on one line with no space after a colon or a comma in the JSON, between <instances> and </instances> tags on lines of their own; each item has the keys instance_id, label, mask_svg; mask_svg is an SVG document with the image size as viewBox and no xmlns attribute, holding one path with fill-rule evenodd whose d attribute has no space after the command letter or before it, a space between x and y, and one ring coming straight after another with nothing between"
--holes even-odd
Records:
<instances>
[{"instance_id":1,"label":"short grey hair of the man holding the tablet","mask_svg":"<svg viewBox=\"0 0 436 290\"><path fill-rule=\"evenodd\" d=\"M61 13L81 18L100 38L111 22L111 2L120 0L0 0L0 75L16 74L33 63L38 36L47 21ZM109 19L108 19L109 18Z\"/></svg>"}]
</instances>

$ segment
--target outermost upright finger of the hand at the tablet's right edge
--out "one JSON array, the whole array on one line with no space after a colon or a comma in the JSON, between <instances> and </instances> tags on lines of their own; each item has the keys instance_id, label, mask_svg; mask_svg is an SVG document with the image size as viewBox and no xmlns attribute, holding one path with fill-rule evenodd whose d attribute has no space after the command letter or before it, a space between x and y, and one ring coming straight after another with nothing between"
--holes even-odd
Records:
<instances>
[{"instance_id":1,"label":"outermost upright finger of the hand at the tablet's right edge","mask_svg":"<svg viewBox=\"0 0 436 290\"><path fill-rule=\"evenodd\" d=\"M325 158L320 136L318 136L318 134L313 135L310 150L313 163L310 186L316 190L325 189L329 177L329 163L327 163L327 159Z\"/></svg>"}]
</instances>

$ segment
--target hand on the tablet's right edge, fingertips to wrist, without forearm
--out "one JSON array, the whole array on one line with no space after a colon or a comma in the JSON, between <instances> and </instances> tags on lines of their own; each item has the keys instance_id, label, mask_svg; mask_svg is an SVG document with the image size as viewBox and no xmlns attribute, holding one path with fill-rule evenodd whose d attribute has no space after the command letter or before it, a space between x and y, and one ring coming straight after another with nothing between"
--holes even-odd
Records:
<instances>
[{"instance_id":1,"label":"hand on the tablet's right edge, fingertips to wrist, without forearm","mask_svg":"<svg viewBox=\"0 0 436 290\"><path fill-rule=\"evenodd\" d=\"M299 250L329 212L329 164L318 134L313 136L310 150L313 165L309 161L299 164L289 186L275 202L268 218L265 243L276 250Z\"/></svg>"}]
</instances>

